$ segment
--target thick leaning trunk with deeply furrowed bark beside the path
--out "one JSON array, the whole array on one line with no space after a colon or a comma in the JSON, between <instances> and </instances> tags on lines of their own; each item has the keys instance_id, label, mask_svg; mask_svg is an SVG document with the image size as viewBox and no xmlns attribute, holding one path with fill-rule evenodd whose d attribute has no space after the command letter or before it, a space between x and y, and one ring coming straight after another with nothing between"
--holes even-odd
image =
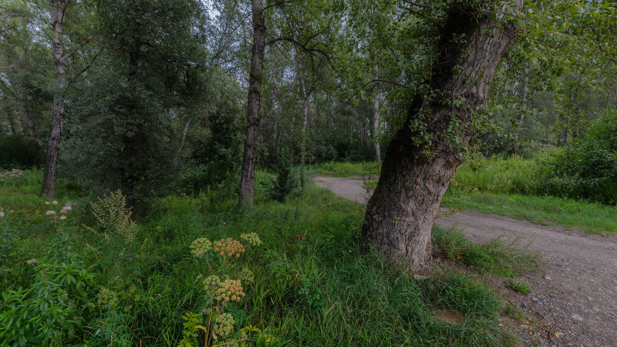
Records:
<instances>
[{"instance_id":1,"label":"thick leaning trunk with deeply furrowed bark beside the path","mask_svg":"<svg viewBox=\"0 0 617 347\"><path fill-rule=\"evenodd\" d=\"M405 124L387 148L362 228L363 237L376 251L411 270L420 269L431 256L433 220L462 162L458 148L444 135L450 124L457 123L458 139L471 140L474 112L486 101L488 83L515 31L499 15L479 13L481 5L457 4L448 9L433 75L427 82L441 97L424 101L423 95L416 95L413 99ZM522 7L521 0L517 4ZM455 40L460 37L466 40ZM455 98L462 103L455 106ZM423 133L413 130L413 120L425 116ZM424 135L432 142L414 141Z\"/></svg>"}]
</instances>

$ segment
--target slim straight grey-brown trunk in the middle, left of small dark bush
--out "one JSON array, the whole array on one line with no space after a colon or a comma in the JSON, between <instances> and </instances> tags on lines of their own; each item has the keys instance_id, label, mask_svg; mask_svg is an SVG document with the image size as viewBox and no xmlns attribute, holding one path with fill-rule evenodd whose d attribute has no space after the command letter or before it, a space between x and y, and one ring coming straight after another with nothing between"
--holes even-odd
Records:
<instances>
[{"instance_id":1,"label":"slim straight grey-brown trunk in the middle, left of small dark bush","mask_svg":"<svg viewBox=\"0 0 617 347\"><path fill-rule=\"evenodd\" d=\"M253 14L253 50L249 77L246 140L240 177L239 207L252 207L255 193L255 158L257 157L257 134L259 132L259 109L261 106L261 85L263 70L263 49L265 48L265 25L263 23L262 0L251 1Z\"/></svg>"}]
</instances>

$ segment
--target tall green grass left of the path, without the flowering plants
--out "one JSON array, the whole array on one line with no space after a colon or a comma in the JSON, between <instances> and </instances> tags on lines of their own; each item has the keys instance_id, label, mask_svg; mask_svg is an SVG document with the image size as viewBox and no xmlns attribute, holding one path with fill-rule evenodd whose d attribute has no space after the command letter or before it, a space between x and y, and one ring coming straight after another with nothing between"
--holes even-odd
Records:
<instances>
[{"instance_id":1,"label":"tall green grass left of the path, without the flowering plants","mask_svg":"<svg viewBox=\"0 0 617 347\"><path fill-rule=\"evenodd\" d=\"M217 191L157 199L138 224L135 244L106 254L99 251L107 249L101 234L84 226L94 227L86 199L64 185L60 204L70 200L78 205L66 220L65 233L50 224L44 215L49 206L36 197L39 177L40 172L30 172L25 178L0 183L0 206L15 211L4 222L17 235L8 253L10 271L0 278L0 290L32 285L33 266L40 265L26 266L25 261L44 257L49 249L64 254L53 244L59 235L68 235L74 245L71 252L84 259L75 265L94 266L88 270L97 282L91 293L105 287L115 291L120 301L115 309L99 307L83 313L83 327L75 325L73 333L63 330L65 344L89 341L89 346L106 346L113 338L118 346L120 341L126 346L175 346L183 330L181 316L200 312L204 303L201 281L207 270L191 256L189 245L198 237L237 239L246 232L258 233L263 245L248 249L238 261L254 272L255 280L246 285L242 303L226 311L236 321L236 337L239 328L252 324L271 333L277 346L513 343L497 321L507 308L490 288L455 270L416 280L377 254L361 253L361 206L314 185L286 203L263 198L263 188L258 186L255 207L244 212L236 211L233 196ZM442 232L439 240L450 252L471 245L450 232ZM477 254L468 252L465 259L478 268L503 272L495 271L498 267L492 264L507 267L511 259L500 256L491 261L491 255L499 253L495 249L501 248L478 248ZM106 270L110 262L120 264L113 274ZM94 302L93 295L89 299ZM4 312L7 306L0 304ZM444 308L460 312L461 324L434 319L431 312Z\"/></svg>"}]
</instances>

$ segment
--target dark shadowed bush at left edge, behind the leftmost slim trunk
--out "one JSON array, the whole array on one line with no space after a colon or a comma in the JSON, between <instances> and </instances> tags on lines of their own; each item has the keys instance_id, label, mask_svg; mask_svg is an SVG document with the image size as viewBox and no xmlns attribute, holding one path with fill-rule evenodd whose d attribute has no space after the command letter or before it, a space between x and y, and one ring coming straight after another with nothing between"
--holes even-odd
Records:
<instances>
[{"instance_id":1,"label":"dark shadowed bush at left edge, behind the leftmost slim trunk","mask_svg":"<svg viewBox=\"0 0 617 347\"><path fill-rule=\"evenodd\" d=\"M27 169L44 162L45 151L38 141L19 134L0 136L0 167Z\"/></svg>"}]
</instances>

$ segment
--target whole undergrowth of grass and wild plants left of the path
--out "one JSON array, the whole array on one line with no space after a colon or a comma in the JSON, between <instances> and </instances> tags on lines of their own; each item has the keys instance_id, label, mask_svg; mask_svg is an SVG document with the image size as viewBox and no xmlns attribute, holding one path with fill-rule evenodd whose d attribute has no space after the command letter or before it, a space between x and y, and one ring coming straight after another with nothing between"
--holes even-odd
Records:
<instances>
[{"instance_id":1,"label":"whole undergrowth of grass and wild plants left of the path","mask_svg":"<svg viewBox=\"0 0 617 347\"><path fill-rule=\"evenodd\" d=\"M361 254L360 205L313 185L282 204L258 186L254 209L244 212L212 191L170 196L133 223L118 207L122 196L88 201L61 182L59 203L46 204L40 183L36 170L0 182L0 345L204 345L209 322L218 346L511 343L489 288L451 269L416 280ZM225 241L239 257L210 243L225 238L244 243L239 251ZM491 249L449 251L465 241L443 230L435 241L455 261L510 275L497 269L511 259L491 260ZM222 304L226 294L208 283L228 280L238 297ZM431 315L444 307L462 322Z\"/></svg>"}]
</instances>

